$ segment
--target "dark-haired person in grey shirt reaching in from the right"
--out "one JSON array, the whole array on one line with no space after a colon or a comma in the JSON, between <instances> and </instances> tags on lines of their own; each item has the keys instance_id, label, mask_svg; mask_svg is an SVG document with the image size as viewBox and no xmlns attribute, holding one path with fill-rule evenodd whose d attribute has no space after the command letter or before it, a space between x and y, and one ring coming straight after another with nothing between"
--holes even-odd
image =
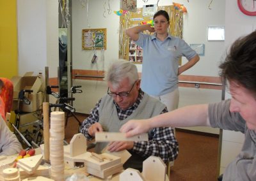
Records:
<instances>
[{"instance_id":1,"label":"dark-haired person in grey shirt reaching in from the right","mask_svg":"<svg viewBox=\"0 0 256 181\"><path fill-rule=\"evenodd\" d=\"M231 99L186 106L147 121L130 120L120 131L127 136L167 126L212 126L240 131L244 133L241 152L219 180L256 180L256 31L233 43L220 69Z\"/></svg>"}]
</instances>

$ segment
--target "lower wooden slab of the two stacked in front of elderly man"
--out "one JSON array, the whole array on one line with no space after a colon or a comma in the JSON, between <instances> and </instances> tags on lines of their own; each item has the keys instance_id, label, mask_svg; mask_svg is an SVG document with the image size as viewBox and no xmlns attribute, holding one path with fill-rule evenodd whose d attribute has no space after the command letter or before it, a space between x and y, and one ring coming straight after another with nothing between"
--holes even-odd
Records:
<instances>
[{"instance_id":1,"label":"lower wooden slab of the two stacked in front of elderly man","mask_svg":"<svg viewBox=\"0 0 256 181\"><path fill-rule=\"evenodd\" d=\"M118 173L122 170L123 170L123 164L122 163L116 164L115 166L111 166L111 167L106 168L102 171L95 170L93 168L90 168L89 166L86 167L87 173L90 173L90 174L95 175L95 176L100 177L100 178L107 178L107 177L109 177L109 175L113 175L113 174Z\"/></svg>"}]
</instances>

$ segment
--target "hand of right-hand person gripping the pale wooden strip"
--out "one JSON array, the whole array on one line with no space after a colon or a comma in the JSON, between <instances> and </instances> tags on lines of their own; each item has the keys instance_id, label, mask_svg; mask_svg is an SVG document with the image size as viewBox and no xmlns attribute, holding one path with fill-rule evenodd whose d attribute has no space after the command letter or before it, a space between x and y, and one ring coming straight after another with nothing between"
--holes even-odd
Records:
<instances>
[{"instance_id":1,"label":"hand of right-hand person gripping the pale wooden strip","mask_svg":"<svg viewBox=\"0 0 256 181\"><path fill-rule=\"evenodd\" d=\"M147 133L150 129L148 120L129 120L121 128L120 132L126 133L127 137L135 136L141 133Z\"/></svg>"}]
</instances>

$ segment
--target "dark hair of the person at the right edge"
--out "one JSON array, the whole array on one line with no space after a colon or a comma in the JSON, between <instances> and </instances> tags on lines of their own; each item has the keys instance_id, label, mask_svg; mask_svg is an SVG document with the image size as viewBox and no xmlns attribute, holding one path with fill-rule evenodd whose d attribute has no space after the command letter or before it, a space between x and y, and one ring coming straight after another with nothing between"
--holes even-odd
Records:
<instances>
[{"instance_id":1,"label":"dark hair of the person at the right edge","mask_svg":"<svg viewBox=\"0 0 256 181\"><path fill-rule=\"evenodd\" d=\"M220 69L223 80L233 80L256 95L256 31L232 44Z\"/></svg>"}]
</instances>

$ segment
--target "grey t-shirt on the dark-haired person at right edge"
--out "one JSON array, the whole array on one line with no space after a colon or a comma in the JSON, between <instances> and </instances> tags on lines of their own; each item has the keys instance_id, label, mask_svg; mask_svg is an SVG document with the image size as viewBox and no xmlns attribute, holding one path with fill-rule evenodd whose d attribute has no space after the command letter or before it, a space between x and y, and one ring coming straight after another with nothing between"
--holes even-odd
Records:
<instances>
[{"instance_id":1,"label":"grey t-shirt on the dark-haired person at right edge","mask_svg":"<svg viewBox=\"0 0 256 181\"><path fill-rule=\"evenodd\" d=\"M256 180L256 133L246 127L239 113L229 111L230 99L209 105L208 116L212 127L244 133L244 143L236 159L228 164L224 180Z\"/></svg>"}]
</instances>

